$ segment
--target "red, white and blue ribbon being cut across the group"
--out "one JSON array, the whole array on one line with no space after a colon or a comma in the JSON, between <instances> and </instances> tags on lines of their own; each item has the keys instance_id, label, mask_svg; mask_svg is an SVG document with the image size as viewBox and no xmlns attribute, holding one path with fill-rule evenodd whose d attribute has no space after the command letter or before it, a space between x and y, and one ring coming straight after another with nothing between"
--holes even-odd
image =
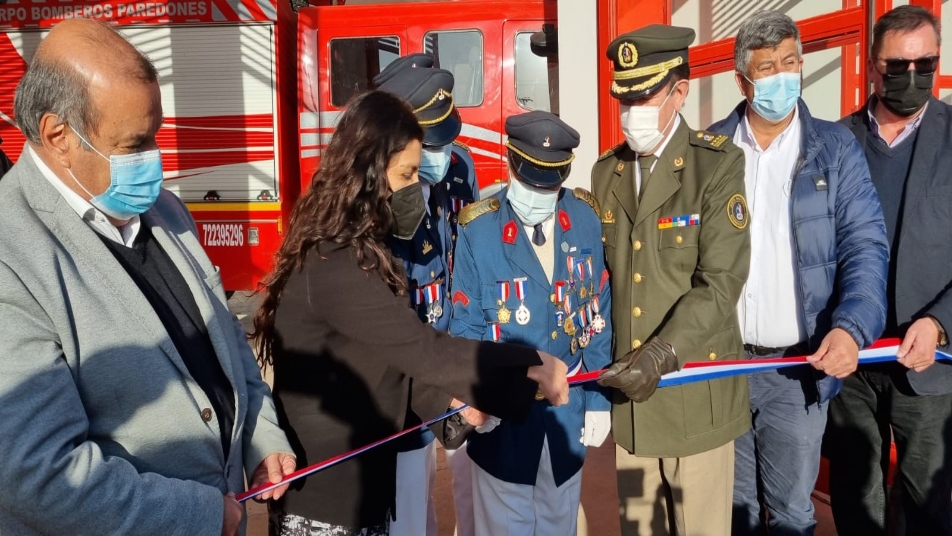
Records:
<instances>
[{"instance_id":1,"label":"red, white and blue ribbon being cut across the group","mask_svg":"<svg viewBox=\"0 0 952 536\"><path fill-rule=\"evenodd\" d=\"M497 325L498 326L498 325ZM860 350L859 352L859 364L866 365L870 363L882 363L885 361L895 361L896 353L899 350L899 339L882 339L873 343L872 346L866 348L865 350ZM936 359L952 359L952 355L945 352L936 350ZM568 383L570 386L578 385L585 382L595 381L602 378L602 374L605 373L605 369L595 370L592 372L583 372L578 373L581 370L581 357L579 357L576 363L573 363L568 367L570 374L568 378ZM779 368L792 367L797 365L804 365L809 363L806 356L799 357L780 357L780 358L767 358L767 359L743 359L735 361L706 361L706 362L691 362L684 365L684 368L677 372L672 372L670 374L665 374L661 377L661 381L658 382L658 387L670 387L673 385L684 385L692 382L706 381L706 380L715 380L719 378L727 378L730 376L740 376L743 374L749 374L752 372L762 372L765 370L775 370ZM363 447L354 449L350 452L345 452L344 454L339 454L332 458L328 458L322 462L318 462L309 467L299 469L282 479L280 482L262 484L261 486L252 488L244 493L239 494L236 499L239 502L247 501L252 497L257 497L266 491L271 491L275 488L288 484L300 478L304 478L308 475L314 474L318 471L322 471L334 465L337 465L343 461L349 460L355 456L363 454L370 449L383 445L384 443L393 441L399 437L407 435L416 430L422 430L434 423L440 422L443 419L452 417L460 411L466 409L467 406L460 406L458 408L452 409L439 417L435 417L426 421L423 424L414 426L412 428L407 428L406 430L397 432L395 434L389 435L383 439L378 439L373 443L365 445Z\"/></svg>"}]
</instances>

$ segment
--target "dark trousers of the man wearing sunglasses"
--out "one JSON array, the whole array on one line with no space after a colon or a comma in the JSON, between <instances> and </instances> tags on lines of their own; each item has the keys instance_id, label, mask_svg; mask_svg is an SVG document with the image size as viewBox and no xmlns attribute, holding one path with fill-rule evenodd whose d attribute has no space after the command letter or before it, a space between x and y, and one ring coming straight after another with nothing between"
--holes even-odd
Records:
<instances>
[{"instance_id":1,"label":"dark trousers of the man wearing sunglasses","mask_svg":"<svg viewBox=\"0 0 952 536\"><path fill-rule=\"evenodd\" d=\"M885 535L890 432L905 533L952 534L952 395L916 395L898 363L863 367L830 402L824 452L840 536Z\"/></svg>"}]
</instances>

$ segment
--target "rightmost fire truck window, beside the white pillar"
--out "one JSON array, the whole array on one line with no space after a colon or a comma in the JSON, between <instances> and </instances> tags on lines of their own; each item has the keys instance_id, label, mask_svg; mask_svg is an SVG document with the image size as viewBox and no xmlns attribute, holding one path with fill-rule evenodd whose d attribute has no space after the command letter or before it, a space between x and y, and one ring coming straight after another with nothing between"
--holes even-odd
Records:
<instances>
[{"instance_id":1,"label":"rightmost fire truck window, beside the white pillar","mask_svg":"<svg viewBox=\"0 0 952 536\"><path fill-rule=\"evenodd\" d=\"M527 110L559 113L559 59L529 48L532 32L516 34L516 101Z\"/></svg>"}]
</instances>

